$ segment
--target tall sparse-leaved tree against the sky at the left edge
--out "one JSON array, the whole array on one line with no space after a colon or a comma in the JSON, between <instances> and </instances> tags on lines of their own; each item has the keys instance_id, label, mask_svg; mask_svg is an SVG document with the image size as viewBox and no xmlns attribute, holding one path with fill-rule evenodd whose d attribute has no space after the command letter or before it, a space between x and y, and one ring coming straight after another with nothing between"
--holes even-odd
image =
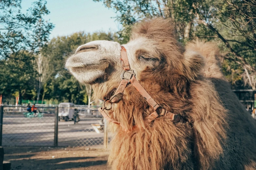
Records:
<instances>
[{"instance_id":1,"label":"tall sparse-leaved tree against the sky at the left edge","mask_svg":"<svg viewBox=\"0 0 256 170\"><path fill-rule=\"evenodd\" d=\"M7 86L6 83L2 84L2 90L5 89L2 93L11 92L11 87L19 91L21 101L27 87L34 85L34 82L24 82L30 74L35 75L34 70L31 71L34 69L34 66L31 66L31 63L34 64L34 54L39 54L40 49L46 45L54 27L43 19L44 15L49 14L45 5L44 0L35 1L26 13L22 13L21 0L0 1L0 66L6 70L2 78L8 83ZM29 66L27 70L24 69L26 65ZM14 72L10 68L18 70ZM13 77L16 77L16 80Z\"/></svg>"}]
</instances>

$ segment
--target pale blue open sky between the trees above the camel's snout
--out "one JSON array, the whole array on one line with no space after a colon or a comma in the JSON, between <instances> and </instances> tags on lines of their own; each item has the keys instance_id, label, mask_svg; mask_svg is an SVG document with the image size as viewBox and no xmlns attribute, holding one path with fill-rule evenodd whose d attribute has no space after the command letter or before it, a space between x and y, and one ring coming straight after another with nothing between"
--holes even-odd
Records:
<instances>
[{"instance_id":1,"label":"pale blue open sky between the trees above the camel's snout","mask_svg":"<svg viewBox=\"0 0 256 170\"><path fill-rule=\"evenodd\" d=\"M23 0L22 11L31 7L35 0ZM116 13L108 9L102 2L93 0L47 0L47 9L50 14L45 20L55 25L50 38L71 35L75 32L85 31L117 31L121 25L115 21Z\"/></svg>"}]
</instances>

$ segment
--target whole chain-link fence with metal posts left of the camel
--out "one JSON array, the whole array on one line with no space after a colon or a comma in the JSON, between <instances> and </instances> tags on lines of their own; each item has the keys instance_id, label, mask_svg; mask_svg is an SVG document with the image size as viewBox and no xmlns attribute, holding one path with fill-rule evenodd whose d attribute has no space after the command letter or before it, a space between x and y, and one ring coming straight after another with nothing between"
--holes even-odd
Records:
<instances>
[{"instance_id":1,"label":"whole chain-link fence with metal posts left of the camel","mask_svg":"<svg viewBox=\"0 0 256 170\"><path fill-rule=\"evenodd\" d=\"M1 106L2 146L107 146L106 123L97 108L36 107L34 113L26 106Z\"/></svg>"}]
</instances>

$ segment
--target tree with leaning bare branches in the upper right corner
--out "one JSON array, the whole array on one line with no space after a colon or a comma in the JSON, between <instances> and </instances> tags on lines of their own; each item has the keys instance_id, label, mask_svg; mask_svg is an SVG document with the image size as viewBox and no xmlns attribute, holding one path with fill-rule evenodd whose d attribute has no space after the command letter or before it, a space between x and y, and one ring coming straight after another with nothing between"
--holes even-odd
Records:
<instances>
[{"instance_id":1,"label":"tree with leaning bare branches in the upper right corner","mask_svg":"<svg viewBox=\"0 0 256 170\"><path fill-rule=\"evenodd\" d=\"M196 21L208 28L229 51L226 59L244 70L244 82L256 90L256 1L197 1Z\"/></svg>"}]
</instances>

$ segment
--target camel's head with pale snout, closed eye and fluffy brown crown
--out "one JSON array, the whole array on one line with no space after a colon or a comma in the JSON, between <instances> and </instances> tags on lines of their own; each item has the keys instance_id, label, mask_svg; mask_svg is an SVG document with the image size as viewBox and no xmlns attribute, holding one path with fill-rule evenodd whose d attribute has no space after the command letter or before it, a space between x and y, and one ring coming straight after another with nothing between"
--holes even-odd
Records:
<instances>
[{"instance_id":1,"label":"camel's head with pale snout, closed eye and fluffy brown crown","mask_svg":"<svg viewBox=\"0 0 256 170\"><path fill-rule=\"evenodd\" d=\"M186 51L176 40L175 25L162 18L138 23L132 31L127 50L130 68L141 82L165 83L174 77L195 79L203 64L196 52ZM96 98L103 98L117 88L123 70L121 45L111 41L92 41L77 48L66 68L81 83L91 84ZM154 80L154 82L152 82Z\"/></svg>"}]
</instances>

